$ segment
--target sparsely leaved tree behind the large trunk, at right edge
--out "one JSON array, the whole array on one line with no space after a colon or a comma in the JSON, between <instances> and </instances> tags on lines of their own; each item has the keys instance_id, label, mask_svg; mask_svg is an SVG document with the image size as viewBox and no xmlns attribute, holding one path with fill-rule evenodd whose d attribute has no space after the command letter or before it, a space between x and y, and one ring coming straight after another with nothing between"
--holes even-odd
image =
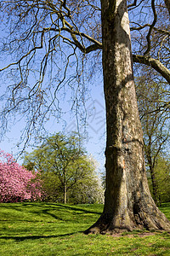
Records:
<instances>
[{"instance_id":1,"label":"sparsely leaved tree behind the large trunk, at right edge","mask_svg":"<svg viewBox=\"0 0 170 256\"><path fill-rule=\"evenodd\" d=\"M147 75L136 79L139 116L144 131L144 151L150 171L153 198L161 204L159 180L156 178L156 162L163 150L168 154L170 138L169 89L161 81L154 82Z\"/></svg>"}]
</instances>

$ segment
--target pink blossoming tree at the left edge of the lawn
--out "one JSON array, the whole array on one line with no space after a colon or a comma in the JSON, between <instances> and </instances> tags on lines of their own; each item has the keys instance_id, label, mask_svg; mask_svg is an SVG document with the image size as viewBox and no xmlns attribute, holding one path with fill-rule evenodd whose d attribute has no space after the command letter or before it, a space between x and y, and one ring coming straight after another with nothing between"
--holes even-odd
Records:
<instances>
[{"instance_id":1,"label":"pink blossoming tree at the left edge of the lawn","mask_svg":"<svg viewBox=\"0 0 170 256\"><path fill-rule=\"evenodd\" d=\"M0 150L0 202L41 199L41 186L36 177L36 173L16 163L12 154Z\"/></svg>"}]
</instances>

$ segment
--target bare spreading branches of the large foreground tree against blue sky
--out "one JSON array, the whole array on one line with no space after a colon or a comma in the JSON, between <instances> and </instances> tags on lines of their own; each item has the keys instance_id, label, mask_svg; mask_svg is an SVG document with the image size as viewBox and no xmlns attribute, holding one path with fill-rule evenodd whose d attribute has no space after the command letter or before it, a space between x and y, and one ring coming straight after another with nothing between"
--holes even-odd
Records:
<instances>
[{"instance_id":1,"label":"bare spreading branches of the large foreground tree against blue sky","mask_svg":"<svg viewBox=\"0 0 170 256\"><path fill-rule=\"evenodd\" d=\"M169 83L167 2L127 1L127 7L133 62L156 70ZM17 0L1 1L0 11L1 79L6 84L1 135L11 117L22 116L26 130L21 141L29 141L52 114L59 119L65 86L71 109L80 115L88 97L85 80L101 72L101 6L95 0Z\"/></svg>"}]
</instances>

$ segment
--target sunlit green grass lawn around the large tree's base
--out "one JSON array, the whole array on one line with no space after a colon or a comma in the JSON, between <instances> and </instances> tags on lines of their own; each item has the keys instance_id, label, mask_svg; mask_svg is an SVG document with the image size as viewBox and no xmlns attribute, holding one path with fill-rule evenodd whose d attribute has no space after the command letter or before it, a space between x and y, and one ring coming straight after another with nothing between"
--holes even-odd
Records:
<instances>
[{"instance_id":1,"label":"sunlit green grass lawn around the large tree's base","mask_svg":"<svg viewBox=\"0 0 170 256\"><path fill-rule=\"evenodd\" d=\"M170 255L170 235L84 235L102 205L0 204L0 256ZM161 211L170 219L170 203Z\"/></svg>"}]
</instances>

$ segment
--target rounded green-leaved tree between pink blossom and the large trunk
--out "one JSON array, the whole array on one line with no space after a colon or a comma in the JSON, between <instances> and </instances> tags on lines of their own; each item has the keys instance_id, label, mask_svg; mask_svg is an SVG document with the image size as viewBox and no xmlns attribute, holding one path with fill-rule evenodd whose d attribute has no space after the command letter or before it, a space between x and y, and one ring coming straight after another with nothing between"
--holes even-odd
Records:
<instances>
[{"instance_id":1,"label":"rounded green-leaved tree between pink blossom and the large trunk","mask_svg":"<svg viewBox=\"0 0 170 256\"><path fill-rule=\"evenodd\" d=\"M94 203L103 201L103 189L95 174L82 140L73 133L66 137L56 133L44 140L31 154L26 154L24 166L41 170L46 201Z\"/></svg>"}]
</instances>

